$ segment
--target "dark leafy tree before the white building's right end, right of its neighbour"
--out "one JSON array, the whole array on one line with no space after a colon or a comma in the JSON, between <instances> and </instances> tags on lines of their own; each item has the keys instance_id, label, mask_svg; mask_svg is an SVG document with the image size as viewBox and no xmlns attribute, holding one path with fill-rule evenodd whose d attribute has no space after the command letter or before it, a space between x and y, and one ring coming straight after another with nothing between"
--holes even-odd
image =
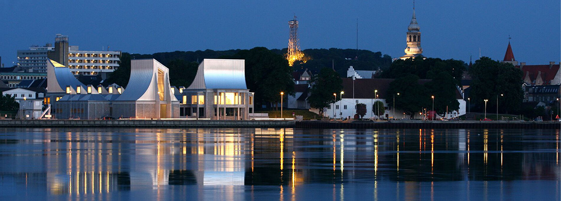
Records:
<instances>
[{"instance_id":1,"label":"dark leafy tree before the white building's right end, right of its neighbour","mask_svg":"<svg viewBox=\"0 0 561 201\"><path fill-rule=\"evenodd\" d=\"M441 71L433 80L425 84L427 92L434 95L434 110L438 114L456 111L459 109L459 102L456 99L456 80L452 75Z\"/></svg>"}]
</instances>

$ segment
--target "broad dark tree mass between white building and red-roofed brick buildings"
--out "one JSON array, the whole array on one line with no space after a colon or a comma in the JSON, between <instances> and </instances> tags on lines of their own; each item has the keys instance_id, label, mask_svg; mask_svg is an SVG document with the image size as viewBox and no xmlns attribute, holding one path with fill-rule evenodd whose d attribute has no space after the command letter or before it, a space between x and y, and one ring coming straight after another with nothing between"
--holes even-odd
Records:
<instances>
[{"instance_id":1,"label":"broad dark tree mass between white building and red-roofed brick buildings","mask_svg":"<svg viewBox=\"0 0 561 201\"><path fill-rule=\"evenodd\" d=\"M523 99L520 69L509 63L482 57L475 61L469 73L472 78L470 98L477 108L482 110L485 107L484 99L488 99L487 109L493 111L497 107L496 98L499 111L508 113L511 108L520 108Z\"/></svg>"}]
</instances>

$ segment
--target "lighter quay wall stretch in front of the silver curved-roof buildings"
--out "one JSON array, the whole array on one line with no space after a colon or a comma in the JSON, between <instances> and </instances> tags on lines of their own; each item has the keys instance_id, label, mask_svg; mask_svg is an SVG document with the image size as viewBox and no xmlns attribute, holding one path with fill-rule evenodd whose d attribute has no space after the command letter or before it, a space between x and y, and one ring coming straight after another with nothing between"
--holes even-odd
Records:
<instances>
[{"instance_id":1,"label":"lighter quay wall stretch in front of the silver curved-roof buildings","mask_svg":"<svg viewBox=\"0 0 561 201\"><path fill-rule=\"evenodd\" d=\"M229 121L229 120L184 120L184 119L36 119L0 120L0 127L294 127L295 121Z\"/></svg>"}]
</instances>

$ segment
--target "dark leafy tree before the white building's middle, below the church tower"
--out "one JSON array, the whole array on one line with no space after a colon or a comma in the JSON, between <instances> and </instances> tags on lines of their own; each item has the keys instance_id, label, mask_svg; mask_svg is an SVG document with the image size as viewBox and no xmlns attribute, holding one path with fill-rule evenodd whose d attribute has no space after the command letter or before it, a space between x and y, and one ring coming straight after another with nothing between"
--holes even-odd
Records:
<instances>
[{"instance_id":1,"label":"dark leafy tree before the white building's middle, below the church tower","mask_svg":"<svg viewBox=\"0 0 561 201\"><path fill-rule=\"evenodd\" d=\"M431 99L426 87L419 84L419 76L406 75L393 80L389 84L388 97L399 93L396 97L396 108L413 117L422 108L430 106ZM393 105L393 103L390 103Z\"/></svg>"}]
</instances>

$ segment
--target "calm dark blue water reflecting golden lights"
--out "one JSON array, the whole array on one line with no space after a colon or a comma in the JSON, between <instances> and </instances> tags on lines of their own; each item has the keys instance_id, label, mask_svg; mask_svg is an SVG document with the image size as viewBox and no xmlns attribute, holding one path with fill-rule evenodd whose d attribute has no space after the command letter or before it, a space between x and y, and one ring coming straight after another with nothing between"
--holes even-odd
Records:
<instances>
[{"instance_id":1,"label":"calm dark blue water reflecting golden lights","mask_svg":"<svg viewBox=\"0 0 561 201\"><path fill-rule=\"evenodd\" d=\"M0 128L0 200L560 200L559 130Z\"/></svg>"}]
</instances>

